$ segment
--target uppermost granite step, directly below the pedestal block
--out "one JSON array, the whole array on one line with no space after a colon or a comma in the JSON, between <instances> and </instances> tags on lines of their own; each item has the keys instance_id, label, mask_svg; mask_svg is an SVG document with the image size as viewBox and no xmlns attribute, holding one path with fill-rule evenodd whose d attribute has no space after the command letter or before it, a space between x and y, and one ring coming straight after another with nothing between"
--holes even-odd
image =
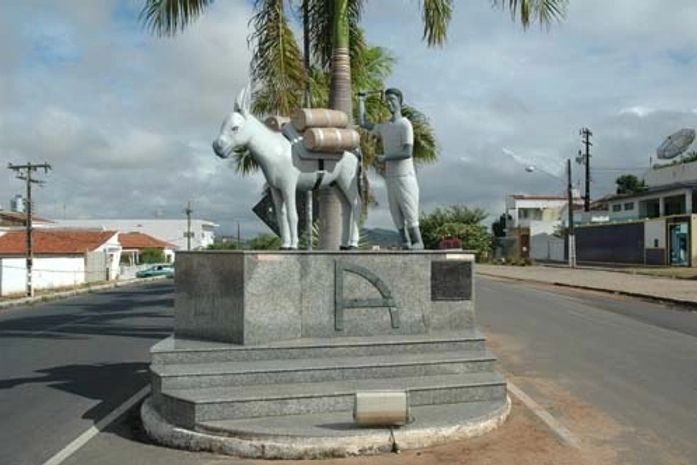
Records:
<instances>
[{"instance_id":1,"label":"uppermost granite step, directly below the pedestal block","mask_svg":"<svg viewBox=\"0 0 697 465\"><path fill-rule=\"evenodd\" d=\"M470 351L483 350L484 341L484 336L473 330L380 338L305 338L255 346L169 337L150 352L153 365L161 365Z\"/></svg>"}]
</instances>

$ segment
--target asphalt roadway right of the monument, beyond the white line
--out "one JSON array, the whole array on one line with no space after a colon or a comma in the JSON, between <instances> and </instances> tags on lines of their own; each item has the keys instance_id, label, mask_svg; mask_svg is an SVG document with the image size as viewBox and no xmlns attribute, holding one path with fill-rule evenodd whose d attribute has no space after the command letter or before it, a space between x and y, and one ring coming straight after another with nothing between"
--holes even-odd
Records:
<instances>
[{"instance_id":1,"label":"asphalt roadway right of the monument, beyond the white line","mask_svg":"<svg viewBox=\"0 0 697 465\"><path fill-rule=\"evenodd\" d=\"M477 292L510 379L596 462L697 464L696 312L491 279Z\"/></svg>"}]
</instances>

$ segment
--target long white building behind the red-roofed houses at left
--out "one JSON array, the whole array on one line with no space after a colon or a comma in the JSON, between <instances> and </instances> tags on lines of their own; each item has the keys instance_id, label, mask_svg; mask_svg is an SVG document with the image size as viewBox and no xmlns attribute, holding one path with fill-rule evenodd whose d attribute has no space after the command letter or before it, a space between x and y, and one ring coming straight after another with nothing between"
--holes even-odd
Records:
<instances>
[{"instance_id":1,"label":"long white building behind the red-roofed houses at left","mask_svg":"<svg viewBox=\"0 0 697 465\"><path fill-rule=\"evenodd\" d=\"M56 220L61 228L97 228L115 230L123 233L140 232L176 246L177 250L187 250L186 218L146 219L146 220ZM205 249L215 240L215 228L211 221L191 220L191 250Z\"/></svg>"}]
</instances>

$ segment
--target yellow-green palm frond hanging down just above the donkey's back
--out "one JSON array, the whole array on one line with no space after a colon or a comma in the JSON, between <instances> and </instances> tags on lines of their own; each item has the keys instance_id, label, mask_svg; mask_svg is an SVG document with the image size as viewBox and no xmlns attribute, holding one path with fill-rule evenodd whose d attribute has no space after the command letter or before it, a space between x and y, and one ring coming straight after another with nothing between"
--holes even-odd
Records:
<instances>
[{"instance_id":1,"label":"yellow-green palm frond hanging down just above the donkey's back","mask_svg":"<svg viewBox=\"0 0 697 465\"><path fill-rule=\"evenodd\" d=\"M289 115L300 107L305 87L302 53L283 8L283 0L256 0L250 24L253 32L251 74L260 90L255 92L255 113Z\"/></svg>"}]
</instances>

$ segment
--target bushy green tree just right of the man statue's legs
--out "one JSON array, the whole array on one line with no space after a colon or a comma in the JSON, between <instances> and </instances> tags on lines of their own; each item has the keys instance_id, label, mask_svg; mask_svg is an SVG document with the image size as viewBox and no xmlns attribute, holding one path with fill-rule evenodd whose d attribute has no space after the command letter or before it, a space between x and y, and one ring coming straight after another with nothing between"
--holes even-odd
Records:
<instances>
[{"instance_id":1,"label":"bushy green tree just right of the man statue's legs","mask_svg":"<svg viewBox=\"0 0 697 465\"><path fill-rule=\"evenodd\" d=\"M475 250L481 257L493 243L493 235L480 224L487 216L481 208L469 209L462 205L436 208L419 220L424 245L437 249L443 239L456 237L462 241L464 249Z\"/></svg>"}]
</instances>

